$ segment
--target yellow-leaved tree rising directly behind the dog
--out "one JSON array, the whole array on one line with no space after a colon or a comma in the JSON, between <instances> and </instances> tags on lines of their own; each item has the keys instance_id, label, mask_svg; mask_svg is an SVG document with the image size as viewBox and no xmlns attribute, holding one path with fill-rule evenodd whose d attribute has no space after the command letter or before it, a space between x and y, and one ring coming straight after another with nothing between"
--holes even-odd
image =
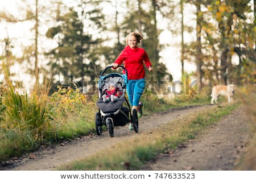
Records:
<instances>
[{"instance_id":1,"label":"yellow-leaved tree rising directly behind the dog","mask_svg":"<svg viewBox=\"0 0 256 182\"><path fill-rule=\"evenodd\" d=\"M234 81L232 72L235 66L231 63L232 56L234 53L238 55L240 59L238 67L240 67L242 63L241 46L250 49L248 46L251 43L252 35L249 30L250 23L246 23L245 15L250 11L249 1L216 1L213 7L217 7L213 17L218 22L218 31L220 32L220 73L224 83L230 84Z\"/></svg>"}]
</instances>

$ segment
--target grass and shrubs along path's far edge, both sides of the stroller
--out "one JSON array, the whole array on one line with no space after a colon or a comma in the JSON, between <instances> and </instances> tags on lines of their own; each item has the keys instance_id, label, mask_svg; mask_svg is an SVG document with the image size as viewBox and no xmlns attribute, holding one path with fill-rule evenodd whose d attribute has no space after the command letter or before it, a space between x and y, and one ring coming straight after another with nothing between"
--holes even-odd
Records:
<instances>
[{"instance_id":1,"label":"grass and shrubs along path's far edge, both sides of the stroller","mask_svg":"<svg viewBox=\"0 0 256 182\"><path fill-rule=\"evenodd\" d=\"M19 94L4 88L0 102L0 162L5 163L40 147L95 133L98 93L81 94L71 88L47 96ZM143 114L188 105L206 104L199 99L180 96L176 100L159 98L145 90L141 101ZM207 101L209 102L209 101Z\"/></svg>"}]
</instances>

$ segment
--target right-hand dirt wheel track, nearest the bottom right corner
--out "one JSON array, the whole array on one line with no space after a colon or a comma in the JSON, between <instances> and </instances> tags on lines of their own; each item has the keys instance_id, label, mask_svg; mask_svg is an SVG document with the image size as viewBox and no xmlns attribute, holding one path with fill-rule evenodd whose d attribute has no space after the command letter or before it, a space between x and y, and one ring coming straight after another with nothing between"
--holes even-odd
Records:
<instances>
[{"instance_id":1,"label":"right-hand dirt wheel track, nearest the bottom right corner","mask_svg":"<svg viewBox=\"0 0 256 182\"><path fill-rule=\"evenodd\" d=\"M199 138L171 154L161 154L144 170L236 170L247 144L248 118L241 108L225 116Z\"/></svg>"}]
</instances>

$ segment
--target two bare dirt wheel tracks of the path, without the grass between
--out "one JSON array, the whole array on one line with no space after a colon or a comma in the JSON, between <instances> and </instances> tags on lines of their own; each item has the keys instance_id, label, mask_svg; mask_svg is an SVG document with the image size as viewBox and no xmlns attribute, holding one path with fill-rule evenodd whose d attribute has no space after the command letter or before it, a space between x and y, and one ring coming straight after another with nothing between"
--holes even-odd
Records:
<instances>
[{"instance_id":1,"label":"two bare dirt wheel tracks of the path, without the grass between","mask_svg":"<svg viewBox=\"0 0 256 182\"><path fill-rule=\"evenodd\" d=\"M139 119L139 133L149 132L152 127L159 127L205 107L215 106L188 107L142 117ZM155 162L148 163L142 170L232 170L247 139L245 127L247 120L244 115L242 109L238 109L205 132L200 139L191 140L172 154L159 155ZM113 143L137 137L138 134L129 131L127 126L117 127L114 129L113 138L109 137L108 132L100 137L96 135L81 137L75 141L28 154L22 159L17 159L11 168L5 170L56 170L63 164L85 158L96 151L111 147Z\"/></svg>"}]
</instances>

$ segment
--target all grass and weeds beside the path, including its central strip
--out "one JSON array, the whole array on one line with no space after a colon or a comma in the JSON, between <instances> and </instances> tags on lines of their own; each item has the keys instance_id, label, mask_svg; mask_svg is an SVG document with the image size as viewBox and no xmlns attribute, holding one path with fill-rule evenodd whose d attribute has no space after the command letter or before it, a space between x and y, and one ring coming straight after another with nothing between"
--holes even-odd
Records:
<instances>
[{"instance_id":1,"label":"all grass and weeds beside the path, including its central strip","mask_svg":"<svg viewBox=\"0 0 256 182\"><path fill-rule=\"evenodd\" d=\"M240 100L241 104L248 107L248 114L252 116L251 135L255 139L254 90L255 85L239 88L235 94L235 100ZM203 90L197 95L183 94L172 99L156 96L148 90L145 90L144 93L141 98L144 103L144 115L210 103L207 90ZM38 96L35 93L20 95L12 88L5 88L0 102L0 165L5 166L6 161L22 156L27 152L38 150L42 146L58 144L65 140L72 140L82 135L95 133L94 121L95 113L98 111L97 100L98 93L80 94L78 90L70 88L60 89L59 92L54 93L52 96L47 96L47 94ZM101 164L90 163L90 160L94 160L93 158L86 159L81 164L74 164L72 168L67 169L106 169L105 165L109 166L108 169L111 168L113 170L138 169L138 166L154 158L159 152L171 150L186 140L192 139L196 133L204 129L206 124L216 122L216 119L220 119L221 115L228 114L230 110L234 109L232 106L222 107L221 103L226 102L225 97L220 97L219 102L220 107L218 107L218 110L208 110L205 111L206 113L197 114L197 118L188 119L189 123L184 126L176 126L176 124L176 130L173 132L177 131L177 133L172 135L171 138L162 140L159 134L154 139L147 139L148 141L155 140L155 144L148 144L147 140L144 140L143 143L134 144L134 148L129 150L129 154L126 155L125 159L119 154L113 156L111 161L109 161L110 159L102 159ZM188 125L189 127L187 127ZM167 126L168 130L164 132L174 130L172 128L173 126ZM159 131L159 133L162 132ZM242 166L243 168L250 166L251 169L256 169L255 163L251 160L251 156L255 156L254 149L256 144L251 142L248 148L250 149L245 155L245 161L251 164L241 165L241 168ZM120 152L122 154L123 151ZM118 156L120 157L119 159ZM134 156L136 157L134 158ZM115 160L119 161L119 163L114 162Z\"/></svg>"}]
</instances>

